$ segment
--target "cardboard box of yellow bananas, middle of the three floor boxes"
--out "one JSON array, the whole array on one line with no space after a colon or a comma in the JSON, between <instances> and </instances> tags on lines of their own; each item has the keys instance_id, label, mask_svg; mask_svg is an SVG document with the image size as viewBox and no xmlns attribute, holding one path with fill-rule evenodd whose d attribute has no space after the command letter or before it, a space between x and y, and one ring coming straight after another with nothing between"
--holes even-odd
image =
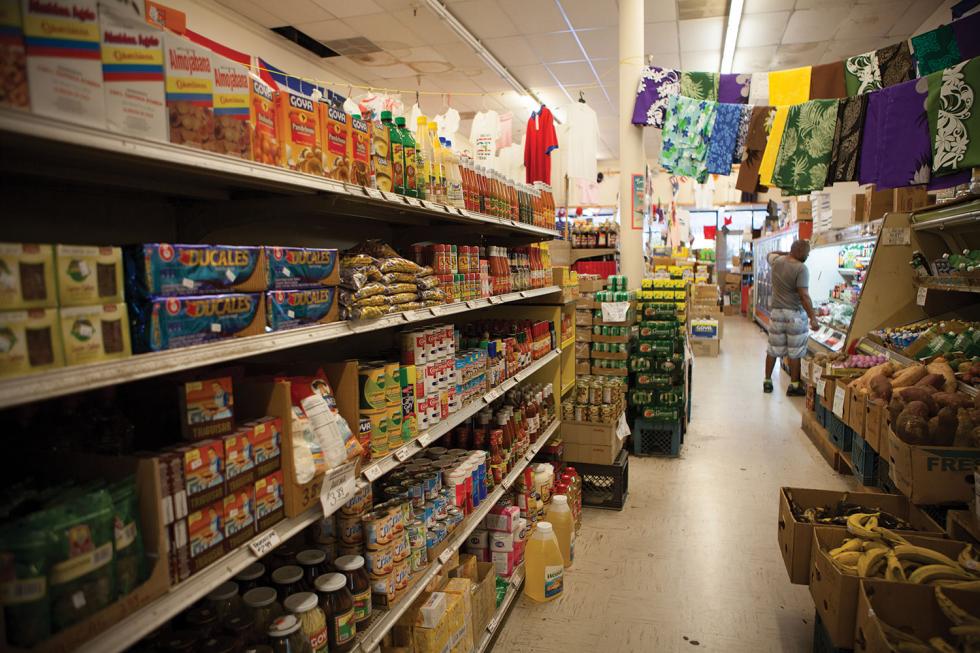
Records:
<instances>
[{"instance_id":1,"label":"cardboard box of yellow bananas, middle of the three floor boxes","mask_svg":"<svg viewBox=\"0 0 980 653\"><path fill-rule=\"evenodd\" d=\"M810 595L834 646L854 646L861 579L980 590L980 559L971 545L900 534L878 519L854 513L846 530L813 531Z\"/></svg>"}]
</instances>

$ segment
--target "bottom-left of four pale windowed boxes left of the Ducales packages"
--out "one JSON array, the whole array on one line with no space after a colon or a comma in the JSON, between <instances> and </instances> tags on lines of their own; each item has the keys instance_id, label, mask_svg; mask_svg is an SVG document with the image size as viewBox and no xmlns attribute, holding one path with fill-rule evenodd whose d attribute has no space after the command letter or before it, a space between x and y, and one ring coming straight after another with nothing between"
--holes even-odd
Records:
<instances>
[{"instance_id":1,"label":"bottom-left of four pale windowed boxes left of the Ducales packages","mask_svg":"<svg viewBox=\"0 0 980 653\"><path fill-rule=\"evenodd\" d=\"M0 376L63 367L58 309L0 311Z\"/></svg>"}]
</instances>

